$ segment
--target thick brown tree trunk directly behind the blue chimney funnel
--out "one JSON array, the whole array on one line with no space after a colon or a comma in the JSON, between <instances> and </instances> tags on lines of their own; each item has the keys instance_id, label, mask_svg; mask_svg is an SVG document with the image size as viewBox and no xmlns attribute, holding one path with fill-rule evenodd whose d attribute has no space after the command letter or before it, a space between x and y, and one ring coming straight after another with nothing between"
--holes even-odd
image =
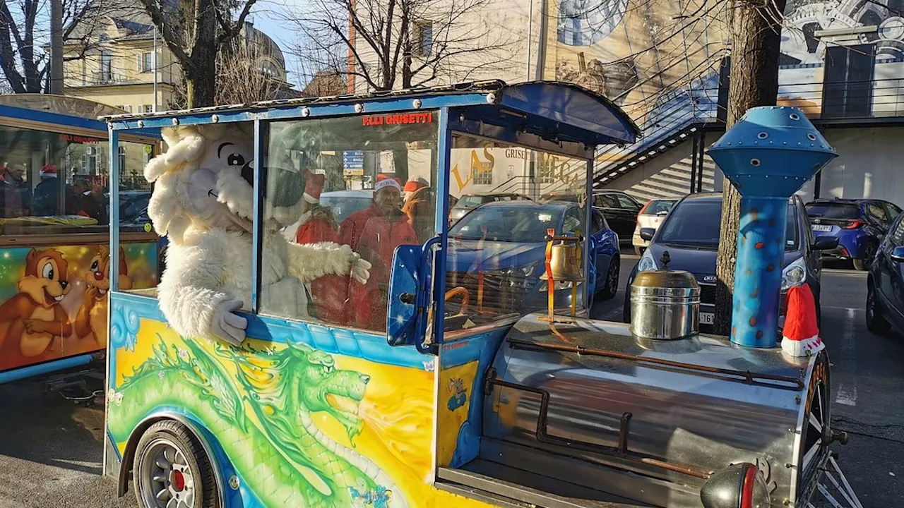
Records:
<instances>
[{"instance_id":1,"label":"thick brown tree trunk directly behind the blue chimney funnel","mask_svg":"<svg viewBox=\"0 0 904 508\"><path fill-rule=\"evenodd\" d=\"M778 95L781 19L786 0L735 0L731 20L731 68L726 129L749 108L774 106ZM716 315L713 332L730 334L735 259L738 255L740 194L722 182L722 217L716 261Z\"/></svg>"}]
</instances>

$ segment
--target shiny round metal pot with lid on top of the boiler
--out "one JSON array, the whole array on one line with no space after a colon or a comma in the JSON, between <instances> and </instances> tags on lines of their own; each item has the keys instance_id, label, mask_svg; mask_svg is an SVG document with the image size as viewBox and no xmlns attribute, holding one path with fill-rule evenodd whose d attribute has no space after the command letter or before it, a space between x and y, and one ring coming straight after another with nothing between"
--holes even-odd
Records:
<instances>
[{"instance_id":1,"label":"shiny round metal pot with lid on top of the boiler","mask_svg":"<svg viewBox=\"0 0 904 508\"><path fill-rule=\"evenodd\" d=\"M683 270L640 272L631 285L631 333L674 340L700 332L700 286Z\"/></svg>"}]
</instances>

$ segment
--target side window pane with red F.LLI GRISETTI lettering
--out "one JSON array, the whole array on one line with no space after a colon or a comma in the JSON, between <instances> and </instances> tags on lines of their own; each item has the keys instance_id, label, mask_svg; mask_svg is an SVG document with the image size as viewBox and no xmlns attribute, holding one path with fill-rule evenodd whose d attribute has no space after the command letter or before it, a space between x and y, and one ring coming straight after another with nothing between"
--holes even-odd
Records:
<instances>
[{"instance_id":1,"label":"side window pane with red F.LLI GRISETTI lettering","mask_svg":"<svg viewBox=\"0 0 904 508\"><path fill-rule=\"evenodd\" d=\"M262 312L385 331L395 249L436 235L437 122L424 111L271 124L265 201L288 211L282 232L306 248L294 252L319 266L325 254L312 244L349 245L372 268L366 283L342 273L303 280L303 308L283 305L278 285L265 281ZM264 240L265 256L279 249L272 243Z\"/></svg>"}]
</instances>

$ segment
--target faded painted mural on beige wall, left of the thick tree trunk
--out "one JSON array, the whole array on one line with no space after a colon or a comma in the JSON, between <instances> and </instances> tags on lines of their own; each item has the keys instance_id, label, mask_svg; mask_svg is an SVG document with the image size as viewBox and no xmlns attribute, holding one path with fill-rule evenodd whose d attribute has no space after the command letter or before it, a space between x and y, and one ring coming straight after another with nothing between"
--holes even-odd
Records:
<instances>
[{"instance_id":1,"label":"faded painted mural on beige wall, left of the thick tree trunk","mask_svg":"<svg viewBox=\"0 0 904 508\"><path fill-rule=\"evenodd\" d=\"M718 76L723 50L718 16L708 14L700 23L676 21L709 13L715 5L706 0L561 0L547 76L605 95L638 124L661 117L668 102L664 92L688 90L692 83Z\"/></svg>"}]
</instances>

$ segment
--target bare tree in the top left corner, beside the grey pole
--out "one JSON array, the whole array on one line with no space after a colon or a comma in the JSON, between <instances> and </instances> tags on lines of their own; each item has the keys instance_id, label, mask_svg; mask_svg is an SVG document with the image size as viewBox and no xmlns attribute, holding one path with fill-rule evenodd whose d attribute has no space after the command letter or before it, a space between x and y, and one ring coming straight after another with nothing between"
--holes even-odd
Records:
<instances>
[{"instance_id":1,"label":"bare tree in the top left corner, beside the grey pole","mask_svg":"<svg viewBox=\"0 0 904 508\"><path fill-rule=\"evenodd\" d=\"M66 61L84 58L91 40L77 25L97 23L110 0L63 0L62 43L73 49ZM0 0L0 70L14 93L41 93L50 71L44 44L50 39L42 0Z\"/></svg>"}]
</instances>

